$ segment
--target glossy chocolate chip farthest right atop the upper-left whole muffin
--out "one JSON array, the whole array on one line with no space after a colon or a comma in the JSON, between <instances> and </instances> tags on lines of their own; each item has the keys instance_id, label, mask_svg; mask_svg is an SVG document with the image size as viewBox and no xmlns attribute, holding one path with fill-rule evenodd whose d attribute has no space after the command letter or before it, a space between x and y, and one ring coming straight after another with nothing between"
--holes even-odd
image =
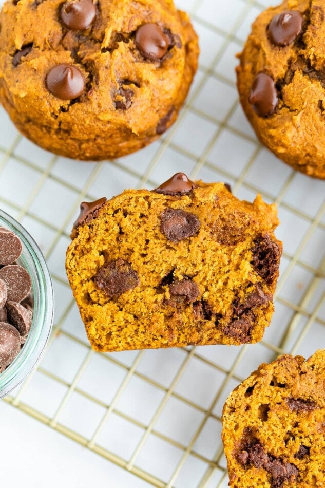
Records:
<instances>
[{"instance_id":1,"label":"glossy chocolate chip farthest right atop the upper-left whole muffin","mask_svg":"<svg viewBox=\"0 0 325 488\"><path fill-rule=\"evenodd\" d=\"M158 24L148 23L140 26L136 32L136 46L144 58L159 61L168 50L168 36Z\"/></svg>"}]
</instances>

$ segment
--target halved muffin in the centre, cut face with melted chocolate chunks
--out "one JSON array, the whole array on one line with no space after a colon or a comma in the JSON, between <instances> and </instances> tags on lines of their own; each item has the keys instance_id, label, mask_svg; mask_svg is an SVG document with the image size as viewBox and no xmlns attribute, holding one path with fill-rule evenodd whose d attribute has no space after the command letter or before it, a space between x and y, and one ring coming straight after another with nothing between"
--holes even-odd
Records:
<instances>
[{"instance_id":1,"label":"halved muffin in the centre, cut face with melted chocolate chunks","mask_svg":"<svg viewBox=\"0 0 325 488\"><path fill-rule=\"evenodd\" d=\"M66 270L94 349L262 339L282 245L275 205L183 173L81 204Z\"/></svg>"}]
</instances>

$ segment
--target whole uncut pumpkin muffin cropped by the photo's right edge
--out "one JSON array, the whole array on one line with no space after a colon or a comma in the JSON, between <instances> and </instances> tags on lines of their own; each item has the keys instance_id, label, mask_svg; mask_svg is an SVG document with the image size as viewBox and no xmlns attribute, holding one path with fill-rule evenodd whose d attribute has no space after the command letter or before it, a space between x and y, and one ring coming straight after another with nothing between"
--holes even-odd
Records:
<instances>
[{"instance_id":1,"label":"whole uncut pumpkin muffin cropped by the photo's right edge","mask_svg":"<svg viewBox=\"0 0 325 488\"><path fill-rule=\"evenodd\" d=\"M239 55L241 104L259 140L295 170L325 178L325 6L285 0L262 12Z\"/></svg>"}]
</instances>

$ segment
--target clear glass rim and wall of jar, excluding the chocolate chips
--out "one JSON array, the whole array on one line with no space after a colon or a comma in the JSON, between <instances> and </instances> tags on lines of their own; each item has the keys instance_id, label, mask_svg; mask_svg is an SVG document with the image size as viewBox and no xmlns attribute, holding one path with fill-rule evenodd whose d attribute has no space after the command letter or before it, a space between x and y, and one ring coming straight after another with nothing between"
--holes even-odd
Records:
<instances>
[{"instance_id":1,"label":"clear glass rim and wall of jar, excluding the chocolate chips","mask_svg":"<svg viewBox=\"0 0 325 488\"><path fill-rule=\"evenodd\" d=\"M49 270L34 239L2 210L0 227L10 229L22 241L23 252L17 264L30 274L34 298L33 320L27 340L15 360L0 373L0 398L3 398L22 383L40 361L53 324L54 297Z\"/></svg>"}]
</instances>

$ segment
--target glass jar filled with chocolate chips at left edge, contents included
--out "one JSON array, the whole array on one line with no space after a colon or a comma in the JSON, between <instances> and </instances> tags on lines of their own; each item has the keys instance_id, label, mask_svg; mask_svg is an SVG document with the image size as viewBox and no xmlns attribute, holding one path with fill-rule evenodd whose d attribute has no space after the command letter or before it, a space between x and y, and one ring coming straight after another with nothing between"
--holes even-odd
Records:
<instances>
[{"instance_id":1,"label":"glass jar filled with chocolate chips at left edge, contents included","mask_svg":"<svg viewBox=\"0 0 325 488\"><path fill-rule=\"evenodd\" d=\"M52 282L39 247L0 210L0 398L40 360L53 310Z\"/></svg>"}]
</instances>

